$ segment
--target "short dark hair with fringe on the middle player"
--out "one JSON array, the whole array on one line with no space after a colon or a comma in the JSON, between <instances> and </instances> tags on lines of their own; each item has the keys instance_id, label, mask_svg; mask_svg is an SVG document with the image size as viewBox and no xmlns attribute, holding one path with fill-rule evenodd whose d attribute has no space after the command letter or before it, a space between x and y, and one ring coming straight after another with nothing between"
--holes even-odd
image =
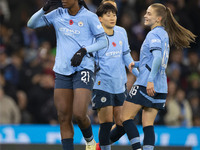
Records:
<instances>
[{"instance_id":1,"label":"short dark hair with fringe on the middle player","mask_svg":"<svg viewBox=\"0 0 200 150\"><path fill-rule=\"evenodd\" d=\"M98 17L102 17L103 14L106 14L107 12L113 12L117 14L117 9L115 6L113 6L110 3L102 4L97 8L96 14Z\"/></svg>"}]
</instances>

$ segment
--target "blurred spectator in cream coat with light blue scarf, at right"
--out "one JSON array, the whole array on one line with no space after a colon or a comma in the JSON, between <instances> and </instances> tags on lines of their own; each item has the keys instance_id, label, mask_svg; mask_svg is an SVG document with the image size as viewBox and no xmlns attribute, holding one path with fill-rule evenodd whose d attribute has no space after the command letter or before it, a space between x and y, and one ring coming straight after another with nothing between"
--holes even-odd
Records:
<instances>
[{"instance_id":1,"label":"blurred spectator in cream coat with light blue scarf, at right","mask_svg":"<svg viewBox=\"0 0 200 150\"><path fill-rule=\"evenodd\" d=\"M166 125L192 126L192 109L182 89L177 90L175 100L168 101L166 108L167 113L164 118Z\"/></svg>"}]
</instances>

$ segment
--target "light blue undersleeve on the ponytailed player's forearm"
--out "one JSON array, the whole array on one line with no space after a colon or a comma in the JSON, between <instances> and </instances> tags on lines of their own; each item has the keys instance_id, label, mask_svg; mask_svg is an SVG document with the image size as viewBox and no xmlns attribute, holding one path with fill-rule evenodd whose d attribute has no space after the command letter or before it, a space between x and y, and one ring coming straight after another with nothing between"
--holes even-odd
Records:
<instances>
[{"instance_id":1,"label":"light blue undersleeve on the ponytailed player's forearm","mask_svg":"<svg viewBox=\"0 0 200 150\"><path fill-rule=\"evenodd\" d=\"M152 67L151 67L151 72L148 78L148 82L153 82L162 63L161 51L155 50L152 53L153 53L154 59L153 59Z\"/></svg>"}]
</instances>

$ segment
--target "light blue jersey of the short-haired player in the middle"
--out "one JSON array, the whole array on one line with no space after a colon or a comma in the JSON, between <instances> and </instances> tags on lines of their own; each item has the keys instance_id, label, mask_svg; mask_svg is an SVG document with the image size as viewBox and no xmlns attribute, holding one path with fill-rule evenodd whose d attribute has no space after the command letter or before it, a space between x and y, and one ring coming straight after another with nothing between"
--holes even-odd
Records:
<instances>
[{"instance_id":1,"label":"light blue jersey of the short-haired player in the middle","mask_svg":"<svg viewBox=\"0 0 200 150\"><path fill-rule=\"evenodd\" d=\"M133 61L126 35L114 28L114 34L107 36L109 47L97 52L96 61L100 70L96 74L94 89L103 90L112 94L125 91L127 75L125 65ZM130 60L124 60L129 55Z\"/></svg>"}]
</instances>

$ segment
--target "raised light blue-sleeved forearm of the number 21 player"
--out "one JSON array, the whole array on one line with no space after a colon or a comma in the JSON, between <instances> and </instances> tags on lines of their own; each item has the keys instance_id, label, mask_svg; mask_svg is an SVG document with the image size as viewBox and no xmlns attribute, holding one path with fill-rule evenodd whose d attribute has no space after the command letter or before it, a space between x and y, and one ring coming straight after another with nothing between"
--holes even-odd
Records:
<instances>
[{"instance_id":1,"label":"raised light blue-sleeved forearm of the number 21 player","mask_svg":"<svg viewBox=\"0 0 200 150\"><path fill-rule=\"evenodd\" d=\"M45 11L43 10L43 8L41 8L39 11L33 14L33 16L29 19L27 26L32 29L46 26L45 21L42 19L44 13Z\"/></svg>"}]
</instances>

